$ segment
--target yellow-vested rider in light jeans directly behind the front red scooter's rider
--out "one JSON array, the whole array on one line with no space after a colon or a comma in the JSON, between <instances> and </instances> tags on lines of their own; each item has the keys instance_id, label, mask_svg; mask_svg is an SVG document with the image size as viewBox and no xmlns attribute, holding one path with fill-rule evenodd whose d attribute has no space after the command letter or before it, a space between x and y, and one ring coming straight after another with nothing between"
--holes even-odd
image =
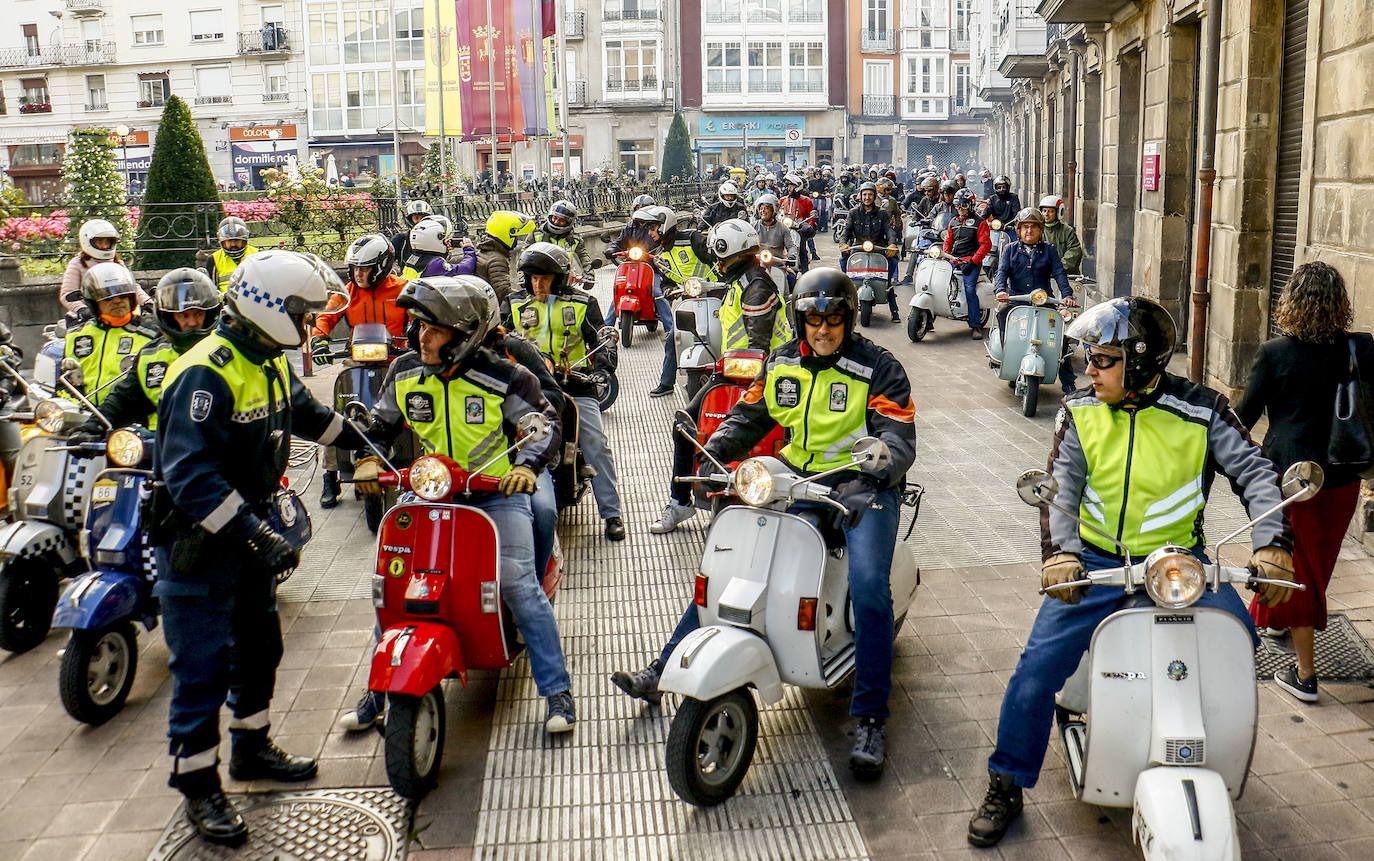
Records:
<instances>
[{"instance_id":1,"label":"yellow-vested rider in light jeans directly behind the front red scooter's rider","mask_svg":"<svg viewBox=\"0 0 1374 861\"><path fill-rule=\"evenodd\" d=\"M567 283L567 251L547 242L537 242L525 249L519 258L519 272L525 290L511 297L511 321L514 330L539 345L554 368L554 375L577 404L577 445L587 459L592 475L592 496L596 509L606 523L606 538L625 540L625 522L620 511L620 489L616 485L616 461L606 444L602 428L600 404L595 397L592 383L570 374L588 353L600 346L603 319L600 306L592 297L576 291ZM614 346L599 350L580 368L616 372ZM565 430L570 434L570 428Z\"/></svg>"}]
</instances>

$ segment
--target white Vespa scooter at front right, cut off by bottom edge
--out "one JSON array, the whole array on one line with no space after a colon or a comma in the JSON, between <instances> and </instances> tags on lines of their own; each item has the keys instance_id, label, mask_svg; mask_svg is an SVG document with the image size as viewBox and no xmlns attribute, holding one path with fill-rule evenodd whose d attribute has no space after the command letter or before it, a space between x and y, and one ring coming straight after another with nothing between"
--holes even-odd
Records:
<instances>
[{"instance_id":1,"label":"white Vespa scooter at front right, cut off by bottom edge","mask_svg":"<svg viewBox=\"0 0 1374 861\"><path fill-rule=\"evenodd\" d=\"M1132 807L1132 836L1147 860L1241 857L1231 799L1245 790L1254 751L1254 647L1234 615L1193 604L1223 582L1303 589L1223 566L1220 549L1256 522L1315 496L1322 478L1314 463L1289 467L1283 503L1219 541L1208 566L1180 547L1161 547L1135 562L1125 547L1054 501L1058 482L1051 475L1030 470L1017 481L1022 500L1069 516L1125 558L1121 567L1051 586L1107 585L1135 596L1098 625L1055 713L1074 796Z\"/></svg>"}]
</instances>

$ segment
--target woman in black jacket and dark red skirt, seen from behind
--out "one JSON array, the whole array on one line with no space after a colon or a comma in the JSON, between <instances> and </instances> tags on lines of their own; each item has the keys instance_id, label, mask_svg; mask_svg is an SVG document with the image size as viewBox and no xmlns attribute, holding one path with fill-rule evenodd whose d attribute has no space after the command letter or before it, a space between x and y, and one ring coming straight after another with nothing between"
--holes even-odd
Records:
<instances>
[{"instance_id":1,"label":"woman in black jacket and dark red skirt, seen from behind","mask_svg":"<svg viewBox=\"0 0 1374 861\"><path fill-rule=\"evenodd\" d=\"M1360 375L1374 378L1374 339L1351 334L1352 320L1341 273L1323 262L1298 266L1275 313L1283 336L1260 346L1245 397L1235 406L1248 427L1268 413L1263 448L1281 472L1298 460L1315 460L1326 471L1320 493L1289 508L1294 579L1307 590L1276 607L1250 601L1256 626L1292 632L1297 663L1275 673L1274 681L1309 703L1316 702L1314 639L1326 629L1326 586L1360 494L1359 475L1326 460L1336 389L1348 379L1352 343Z\"/></svg>"}]
</instances>

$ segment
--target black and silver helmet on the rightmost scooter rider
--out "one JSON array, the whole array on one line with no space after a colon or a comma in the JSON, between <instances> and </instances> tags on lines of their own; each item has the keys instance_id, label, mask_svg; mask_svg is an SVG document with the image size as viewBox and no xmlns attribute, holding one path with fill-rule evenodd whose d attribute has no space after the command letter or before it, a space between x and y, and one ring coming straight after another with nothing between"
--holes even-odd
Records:
<instances>
[{"instance_id":1,"label":"black and silver helmet on the rightmost scooter rider","mask_svg":"<svg viewBox=\"0 0 1374 861\"><path fill-rule=\"evenodd\" d=\"M1169 365L1178 330L1173 317L1158 302L1145 297L1121 297L1083 312L1063 335L1077 339L1084 347L1121 347L1125 354L1121 383L1129 402L1139 398Z\"/></svg>"}]
</instances>

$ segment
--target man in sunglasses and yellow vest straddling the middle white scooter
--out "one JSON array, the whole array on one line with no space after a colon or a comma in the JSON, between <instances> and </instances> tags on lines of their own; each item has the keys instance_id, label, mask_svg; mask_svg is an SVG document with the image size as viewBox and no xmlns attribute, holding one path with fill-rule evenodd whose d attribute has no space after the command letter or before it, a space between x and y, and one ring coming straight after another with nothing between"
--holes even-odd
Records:
<instances>
[{"instance_id":1,"label":"man in sunglasses and yellow vest straddling the middle white scooter","mask_svg":"<svg viewBox=\"0 0 1374 861\"><path fill-rule=\"evenodd\" d=\"M819 479L851 512L835 523L849 548L855 615L849 713L859 718L859 726L849 768L867 780L882 773L886 758L893 639L889 579L901 487L915 459L915 408L901 364L855 331L857 309L859 294L842 272L812 269L797 279L793 316L801 336L774 350L764 372L706 441L706 450L721 463L739 460L780 424L787 445L778 457L807 475L848 463L846 439L874 435L892 452L892 463L877 474L845 470ZM658 659L638 673L614 673L611 682L631 696L658 702L664 662L698 626L697 607L688 603Z\"/></svg>"}]
</instances>

